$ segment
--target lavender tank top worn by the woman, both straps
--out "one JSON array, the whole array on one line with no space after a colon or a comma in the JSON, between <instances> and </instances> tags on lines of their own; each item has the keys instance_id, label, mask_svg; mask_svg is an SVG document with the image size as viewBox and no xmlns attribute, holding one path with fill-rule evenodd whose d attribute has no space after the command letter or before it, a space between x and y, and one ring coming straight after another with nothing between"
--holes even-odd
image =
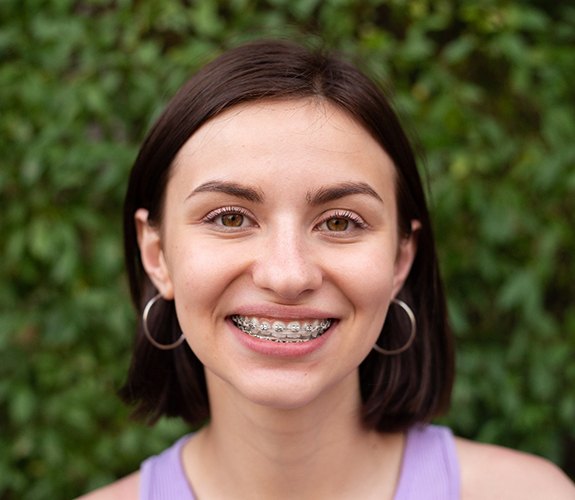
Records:
<instances>
[{"instance_id":1,"label":"lavender tank top worn by the woman, both straps","mask_svg":"<svg viewBox=\"0 0 575 500\"><path fill-rule=\"evenodd\" d=\"M140 500L196 500L181 462L184 436L162 454L142 463ZM458 500L459 463L446 427L417 426L407 433L394 500Z\"/></svg>"}]
</instances>

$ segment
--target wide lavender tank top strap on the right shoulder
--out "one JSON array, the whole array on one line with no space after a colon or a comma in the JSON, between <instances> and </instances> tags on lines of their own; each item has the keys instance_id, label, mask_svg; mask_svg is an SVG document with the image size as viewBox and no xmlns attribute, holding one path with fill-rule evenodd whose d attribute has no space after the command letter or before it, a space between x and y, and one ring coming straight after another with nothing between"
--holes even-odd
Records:
<instances>
[{"instance_id":1,"label":"wide lavender tank top strap on the right shoulder","mask_svg":"<svg viewBox=\"0 0 575 500\"><path fill-rule=\"evenodd\" d=\"M394 500L459 500L460 489L451 430L433 425L410 429Z\"/></svg>"}]
</instances>

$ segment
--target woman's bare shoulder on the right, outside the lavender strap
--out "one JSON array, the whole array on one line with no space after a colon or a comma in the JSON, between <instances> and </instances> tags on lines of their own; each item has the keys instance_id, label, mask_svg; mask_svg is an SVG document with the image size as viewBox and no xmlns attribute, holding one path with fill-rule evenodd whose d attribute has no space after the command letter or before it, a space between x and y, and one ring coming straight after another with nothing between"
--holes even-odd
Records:
<instances>
[{"instance_id":1,"label":"woman's bare shoulder on the right, outside the lavender strap","mask_svg":"<svg viewBox=\"0 0 575 500\"><path fill-rule=\"evenodd\" d=\"M455 442L465 500L575 500L575 485L548 460L461 438Z\"/></svg>"}]
</instances>

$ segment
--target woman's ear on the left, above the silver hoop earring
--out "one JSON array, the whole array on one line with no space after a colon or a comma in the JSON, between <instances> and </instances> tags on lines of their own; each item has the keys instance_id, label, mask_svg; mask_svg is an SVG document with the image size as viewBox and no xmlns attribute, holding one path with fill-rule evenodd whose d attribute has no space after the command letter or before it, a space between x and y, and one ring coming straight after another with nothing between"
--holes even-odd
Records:
<instances>
[{"instance_id":1,"label":"woman's ear on the left, above the silver hoop earring","mask_svg":"<svg viewBox=\"0 0 575 500\"><path fill-rule=\"evenodd\" d=\"M162 249L160 230L150 224L148 211L140 208L134 215L142 265L164 299L174 298L174 287Z\"/></svg>"}]
</instances>

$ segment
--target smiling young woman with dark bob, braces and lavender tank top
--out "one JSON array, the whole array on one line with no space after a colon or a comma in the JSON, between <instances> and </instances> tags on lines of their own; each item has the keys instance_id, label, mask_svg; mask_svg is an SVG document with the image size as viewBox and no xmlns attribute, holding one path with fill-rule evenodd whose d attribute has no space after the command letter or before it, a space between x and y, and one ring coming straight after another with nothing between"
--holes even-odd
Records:
<instances>
[{"instance_id":1,"label":"smiling young woman with dark bob, braces and lavender tank top","mask_svg":"<svg viewBox=\"0 0 575 500\"><path fill-rule=\"evenodd\" d=\"M409 142L351 65L224 54L149 133L125 203L124 398L200 430L90 498L573 499L550 463L429 425L453 378Z\"/></svg>"}]
</instances>

